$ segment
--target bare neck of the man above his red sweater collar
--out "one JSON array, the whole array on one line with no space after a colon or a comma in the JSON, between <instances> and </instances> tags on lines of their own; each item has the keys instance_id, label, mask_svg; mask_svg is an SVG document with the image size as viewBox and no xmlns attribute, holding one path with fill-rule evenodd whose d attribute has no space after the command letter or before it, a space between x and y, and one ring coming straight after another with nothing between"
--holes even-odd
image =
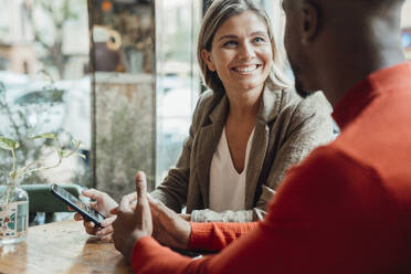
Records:
<instances>
[{"instance_id":1,"label":"bare neck of the man above his red sweater collar","mask_svg":"<svg viewBox=\"0 0 411 274\"><path fill-rule=\"evenodd\" d=\"M333 106L369 74L405 61L400 2L376 13L352 12L349 20L330 20L316 49L316 76Z\"/></svg>"}]
</instances>

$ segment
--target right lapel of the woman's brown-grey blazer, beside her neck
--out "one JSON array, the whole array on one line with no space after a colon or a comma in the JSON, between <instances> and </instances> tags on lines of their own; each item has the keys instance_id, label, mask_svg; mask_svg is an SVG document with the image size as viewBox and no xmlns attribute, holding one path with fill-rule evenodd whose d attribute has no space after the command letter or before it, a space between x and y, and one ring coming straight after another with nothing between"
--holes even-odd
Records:
<instances>
[{"instance_id":1,"label":"right lapel of the woman's brown-grey blazer, beside her neck","mask_svg":"<svg viewBox=\"0 0 411 274\"><path fill-rule=\"evenodd\" d=\"M246 169L246 186L245 186L245 209L250 210L255 207L254 198L259 186L260 173L264 164L266 150L270 140L270 123L277 116L281 107L282 92L280 89L272 91L265 87L263 91L262 101L260 102L254 138L252 141L250 156Z\"/></svg>"}]
</instances>

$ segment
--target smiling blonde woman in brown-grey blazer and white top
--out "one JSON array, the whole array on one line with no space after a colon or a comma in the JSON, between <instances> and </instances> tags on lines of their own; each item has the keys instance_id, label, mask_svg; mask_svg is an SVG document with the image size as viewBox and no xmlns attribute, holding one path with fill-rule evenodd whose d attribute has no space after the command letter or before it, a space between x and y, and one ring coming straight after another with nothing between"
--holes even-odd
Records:
<instances>
[{"instance_id":1,"label":"smiling blonde woman in brown-grey blazer and white top","mask_svg":"<svg viewBox=\"0 0 411 274\"><path fill-rule=\"evenodd\" d=\"M252 1L212 2L198 62L209 91L176 167L150 197L176 212L187 207L193 222L260 220L285 171L333 138L330 107L320 93L302 98L291 87L270 19ZM116 205L97 190L85 194L103 212Z\"/></svg>"}]
</instances>

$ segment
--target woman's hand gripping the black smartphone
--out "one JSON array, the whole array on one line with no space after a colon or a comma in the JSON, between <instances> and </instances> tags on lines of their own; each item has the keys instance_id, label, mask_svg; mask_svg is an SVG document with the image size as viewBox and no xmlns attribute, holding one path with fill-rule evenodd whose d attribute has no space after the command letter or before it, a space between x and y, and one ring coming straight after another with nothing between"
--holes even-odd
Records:
<instances>
[{"instance_id":1,"label":"woman's hand gripping the black smartphone","mask_svg":"<svg viewBox=\"0 0 411 274\"><path fill-rule=\"evenodd\" d=\"M83 224L88 234L97 235L105 241L112 241L113 240L112 224L116 220L116 215L113 214L112 211L117 208L118 205L117 202L107 193L95 189L83 190L82 194L91 199L94 199L95 202L91 202L89 205L99 213L104 214L106 219L102 222L102 228L96 228L94 222L84 220L84 218L80 213L76 213L74 215L74 220L76 221L84 220Z\"/></svg>"}]
</instances>

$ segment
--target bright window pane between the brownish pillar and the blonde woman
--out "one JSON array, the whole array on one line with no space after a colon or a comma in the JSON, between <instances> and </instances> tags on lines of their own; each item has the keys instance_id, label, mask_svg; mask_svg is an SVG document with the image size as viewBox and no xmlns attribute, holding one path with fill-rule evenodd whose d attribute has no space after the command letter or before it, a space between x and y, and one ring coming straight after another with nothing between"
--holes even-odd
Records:
<instances>
[{"instance_id":1,"label":"bright window pane between the brownish pillar and the blonde woman","mask_svg":"<svg viewBox=\"0 0 411 274\"><path fill-rule=\"evenodd\" d=\"M197 34L202 0L156 1L156 185L176 165L200 93Z\"/></svg>"}]
</instances>

